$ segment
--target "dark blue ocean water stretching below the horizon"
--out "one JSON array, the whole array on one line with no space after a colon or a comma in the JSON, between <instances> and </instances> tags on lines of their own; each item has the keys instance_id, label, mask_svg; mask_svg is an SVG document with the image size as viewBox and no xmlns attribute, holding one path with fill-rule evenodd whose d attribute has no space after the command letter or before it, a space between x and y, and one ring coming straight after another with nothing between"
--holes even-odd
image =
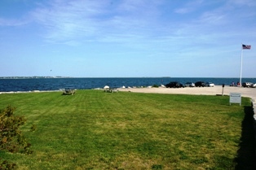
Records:
<instances>
[{"instance_id":1,"label":"dark blue ocean water stretching below the horizon","mask_svg":"<svg viewBox=\"0 0 256 170\"><path fill-rule=\"evenodd\" d=\"M231 85L240 81L239 78L184 78L184 77L142 77L142 78L28 78L0 79L0 92L58 90L58 89L96 89L108 85L112 88L139 87L150 85L166 85L170 81L186 83L188 81L210 81L215 85ZM256 78L243 78L242 82L256 83Z\"/></svg>"}]
</instances>

